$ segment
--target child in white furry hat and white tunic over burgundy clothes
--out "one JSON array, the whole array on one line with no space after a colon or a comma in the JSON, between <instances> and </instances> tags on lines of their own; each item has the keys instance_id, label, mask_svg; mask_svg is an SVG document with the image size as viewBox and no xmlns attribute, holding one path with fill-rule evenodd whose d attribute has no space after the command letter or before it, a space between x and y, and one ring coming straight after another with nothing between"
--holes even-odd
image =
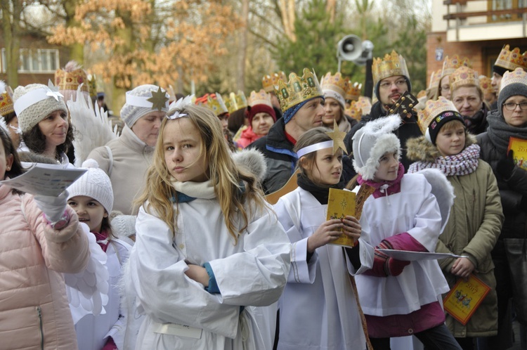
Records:
<instances>
[{"instance_id":1,"label":"child in white furry hat and white tunic over burgundy clothes","mask_svg":"<svg viewBox=\"0 0 527 350\"><path fill-rule=\"evenodd\" d=\"M437 261L400 261L379 251L434 252L443 225L427 178L404 174L401 145L392 134L400 123L398 115L379 118L353 136L358 183L375 188L360 217L375 247L372 270L356 277L360 305L375 350L390 349L390 337L406 335L427 349L461 349L444 324L438 296L449 287Z\"/></svg>"}]
</instances>

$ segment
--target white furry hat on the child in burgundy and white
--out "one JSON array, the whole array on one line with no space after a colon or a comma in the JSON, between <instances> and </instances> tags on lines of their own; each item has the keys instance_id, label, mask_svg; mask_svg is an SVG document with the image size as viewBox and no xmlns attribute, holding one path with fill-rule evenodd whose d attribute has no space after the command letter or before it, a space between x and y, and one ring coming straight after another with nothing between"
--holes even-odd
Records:
<instances>
[{"instance_id":1,"label":"white furry hat on the child in burgundy and white","mask_svg":"<svg viewBox=\"0 0 527 350\"><path fill-rule=\"evenodd\" d=\"M389 115L367 122L353 136L353 167L365 180L372 180L379 169L379 159L386 152L401 157L401 143L392 134L401 124L401 117Z\"/></svg>"}]
</instances>

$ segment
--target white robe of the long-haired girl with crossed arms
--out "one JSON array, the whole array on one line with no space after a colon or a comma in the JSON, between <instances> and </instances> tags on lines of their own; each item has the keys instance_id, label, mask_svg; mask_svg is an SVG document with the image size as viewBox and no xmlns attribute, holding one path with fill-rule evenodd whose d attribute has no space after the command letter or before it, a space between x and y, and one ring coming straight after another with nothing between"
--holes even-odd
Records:
<instances>
[{"instance_id":1,"label":"white robe of the long-haired girl with crossed arms","mask_svg":"<svg viewBox=\"0 0 527 350\"><path fill-rule=\"evenodd\" d=\"M178 205L175 235L139 210L129 267L138 311L146 316L136 349L264 349L252 308L240 306L278 300L289 273L289 240L268 208L249 217L235 245L209 188L207 195L185 192L197 199ZM207 262L218 294L185 275L187 264Z\"/></svg>"}]
</instances>

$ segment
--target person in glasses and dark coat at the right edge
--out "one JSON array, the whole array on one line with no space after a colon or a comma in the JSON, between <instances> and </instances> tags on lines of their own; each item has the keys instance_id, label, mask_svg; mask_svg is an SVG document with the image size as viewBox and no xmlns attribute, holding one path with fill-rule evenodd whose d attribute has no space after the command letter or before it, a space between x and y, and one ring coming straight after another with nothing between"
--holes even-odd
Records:
<instances>
[{"instance_id":1,"label":"person in glasses and dark coat at the right edge","mask_svg":"<svg viewBox=\"0 0 527 350\"><path fill-rule=\"evenodd\" d=\"M527 72L517 67L505 72L497 96L497 110L488 116L486 133L477 136L481 159L493 168L500 188L505 222L493 249L497 281L498 336L488 349L511 344L507 330L509 299L513 298L516 320L527 326L527 276L525 274L525 240L527 222L527 155L523 153L527 140ZM523 251L523 253L522 253Z\"/></svg>"}]
</instances>

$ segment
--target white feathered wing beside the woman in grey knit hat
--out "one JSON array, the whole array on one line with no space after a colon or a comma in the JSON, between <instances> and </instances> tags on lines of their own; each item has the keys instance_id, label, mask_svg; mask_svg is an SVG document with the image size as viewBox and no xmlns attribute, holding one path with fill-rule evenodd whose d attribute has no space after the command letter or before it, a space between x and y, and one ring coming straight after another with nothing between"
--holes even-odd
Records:
<instances>
[{"instance_id":1,"label":"white feathered wing beside the woman in grey knit hat","mask_svg":"<svg viewBox=\"0 0 527 350\"><path fill-rule=\"evenodd\" d=\"M77 101L67 101L70 110L72 125L77 130L74 137L73 148L75 154L75 167L80 167L88 158L94 148L105 145L117 138L117 125L112 130L112 122L108 119L108 112L99 108L97 101L91 105L77 89Z\"/></svg>"}]
</instances>

